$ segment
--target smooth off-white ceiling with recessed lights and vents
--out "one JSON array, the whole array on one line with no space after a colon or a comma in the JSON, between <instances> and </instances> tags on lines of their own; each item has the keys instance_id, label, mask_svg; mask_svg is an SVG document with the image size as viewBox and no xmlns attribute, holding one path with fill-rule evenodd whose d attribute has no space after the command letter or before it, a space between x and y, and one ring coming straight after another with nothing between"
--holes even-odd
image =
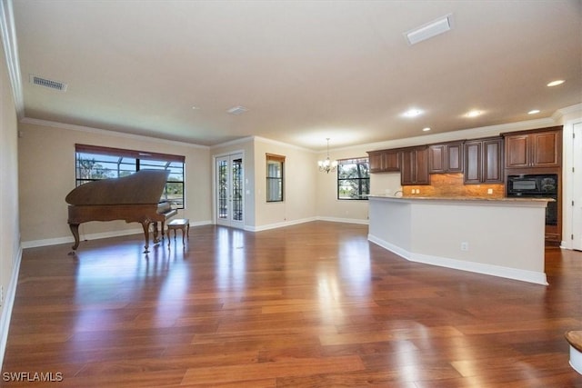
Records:
<instances>
[{"instance_id":1,"label":"smooth off-white ceiling with recessed lights and vents","mask_svg":"<svg viewBox=\"0 0 582 388\"><path fill-rule=\"evenodd\" d=\"M13 0L13 8L24 116L33 119L322 150L326 138L332 148L369 144L547 118L582 103L579 0ZM405 32L448 14L450 31L407 44ZM548 87L555 79L566 82ZM247 111L226 112L237 105ZM403 116L411 108L423 113ZM472 109L481 114L467 117Z\"/></svg>"}]
</instances>

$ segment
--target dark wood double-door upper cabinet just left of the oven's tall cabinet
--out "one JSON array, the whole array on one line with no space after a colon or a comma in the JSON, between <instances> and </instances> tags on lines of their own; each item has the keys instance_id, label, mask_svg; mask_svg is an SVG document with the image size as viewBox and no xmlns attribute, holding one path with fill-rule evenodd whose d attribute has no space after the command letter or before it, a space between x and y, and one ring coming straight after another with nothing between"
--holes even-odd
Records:
<instances>
[{"instance_id":1,"label":"dark wood double-door upper cabinet just left of the oven's tall cabinet","mask_svg":"<svg viewBox=\"0 0 582 388\"><path fill-rule=\"evenodd\" d=\"M503 138L489 137L465 142L465 184L501 184Z\"/></svg>"}]
</instances>

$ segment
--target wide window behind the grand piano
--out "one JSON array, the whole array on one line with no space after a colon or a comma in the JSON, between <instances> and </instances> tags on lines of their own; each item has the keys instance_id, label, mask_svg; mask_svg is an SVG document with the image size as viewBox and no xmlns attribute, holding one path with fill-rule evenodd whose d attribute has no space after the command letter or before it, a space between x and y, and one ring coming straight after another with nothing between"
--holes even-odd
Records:
<instances>
[{"instance_id":1,"label":"wide window behind the grand piano","mask_svg":"<svg viewBox=\"0 0 582 388\"><path fill-rule=\"evenodd\" d=\"M76 186L107 178L120 178L139 170L169 170L160 201L173 209L184 209L184 162L186 158L173 154L75 144Z\"/></svg>"}]
</instances>

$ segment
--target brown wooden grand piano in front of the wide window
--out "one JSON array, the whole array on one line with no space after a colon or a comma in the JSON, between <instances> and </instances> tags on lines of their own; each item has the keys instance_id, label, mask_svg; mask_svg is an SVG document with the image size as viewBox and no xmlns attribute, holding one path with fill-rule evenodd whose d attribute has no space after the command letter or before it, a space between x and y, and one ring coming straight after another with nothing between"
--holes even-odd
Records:
<instances>
[{"instance_id":1,"label":"brown wooden grand piano in front of the wide window","mask_svg":"<svg viewBox=\"0 0 582 388\"><path fill-rule=\"evenodd\" d=\"M79 224L89 221L125 220L144 228L147 254L150 225L154 224L154 242L159 242L157 223L164 236L166 220L177 214L169 203L160 203L169 171L140 170L121 178L103 179L80 185L66 195L68 224L75 237L73 251L79 246Z\"/></svg>"}]
</instances>

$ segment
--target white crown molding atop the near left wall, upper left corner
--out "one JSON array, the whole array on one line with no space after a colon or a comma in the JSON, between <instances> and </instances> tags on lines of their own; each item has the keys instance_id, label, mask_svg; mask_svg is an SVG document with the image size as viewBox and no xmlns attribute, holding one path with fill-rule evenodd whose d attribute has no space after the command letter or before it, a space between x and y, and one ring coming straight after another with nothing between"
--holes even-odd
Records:
<instances>
[{"instance_id":1,"label":"white crown molding atop the near left wall, upper left corner","mask_svg":"<svg viewBox=\"0 0 582 388\"><path fill-rule=\"evenodd\" d=\"M2 35L6 68L15 100L16 116L18 120L22 120L25 116L25 99L22 93L22 77L20 76L20 60L18 59L12 0L2 0L0 2L0 35Z\"/></svg>"}]
</instances>

